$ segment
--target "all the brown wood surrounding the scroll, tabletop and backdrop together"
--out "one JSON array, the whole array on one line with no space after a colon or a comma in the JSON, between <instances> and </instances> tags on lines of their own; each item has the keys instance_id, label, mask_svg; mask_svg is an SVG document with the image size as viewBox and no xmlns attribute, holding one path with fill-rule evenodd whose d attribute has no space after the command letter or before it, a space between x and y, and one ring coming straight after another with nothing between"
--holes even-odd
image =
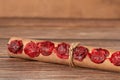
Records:
<instances>
[{"instance_id":1,"label":"all the brown wood surrounding the scroll, tabletop and backdrop together","mask_svg":"<svg viewBox=\"0 0 120 80\"><path fill-rule=\"evenodd\" d=\"M11 36L120 50L120 0L0 0L1 80L120 79L120 73L9 58Z\"/></svg>"}]
</instances>

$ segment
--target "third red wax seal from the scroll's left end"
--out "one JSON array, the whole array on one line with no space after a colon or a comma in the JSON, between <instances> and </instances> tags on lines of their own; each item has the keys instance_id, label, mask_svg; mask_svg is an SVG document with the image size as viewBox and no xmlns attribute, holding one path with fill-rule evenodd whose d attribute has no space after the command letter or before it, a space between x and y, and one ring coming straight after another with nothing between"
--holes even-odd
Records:
<instances>
[{"instance_id":1,"label":"third red wax seal from the scroll's left end","mask_svg":"<svg viewBox=\"0 0 120 80\"><path fill-rule=\"evenodd\" d=\"M38 42L37 45L42 55L49 56L50 54L52 54L52 51L54 49L54 43L50 41L44 41L44 42Z\"/></svg>"}]
</instances>

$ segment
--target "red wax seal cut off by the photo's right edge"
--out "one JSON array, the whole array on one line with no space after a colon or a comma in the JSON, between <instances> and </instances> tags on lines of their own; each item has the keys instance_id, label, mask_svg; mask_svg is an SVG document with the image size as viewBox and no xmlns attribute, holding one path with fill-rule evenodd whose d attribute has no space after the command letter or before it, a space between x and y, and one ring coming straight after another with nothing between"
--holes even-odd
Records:
<instances>
[{"instance_id":1,"label":"red wax seal cut off by the photo's right edge","mask_svg":"<svg viewBox=\"0 0 120 80\"><path fill-rule=\"evenodd\" d=\"M113 53L110 57L111 63L116 66L120 66L120 51Z\"/></svg>"}]
</instances>

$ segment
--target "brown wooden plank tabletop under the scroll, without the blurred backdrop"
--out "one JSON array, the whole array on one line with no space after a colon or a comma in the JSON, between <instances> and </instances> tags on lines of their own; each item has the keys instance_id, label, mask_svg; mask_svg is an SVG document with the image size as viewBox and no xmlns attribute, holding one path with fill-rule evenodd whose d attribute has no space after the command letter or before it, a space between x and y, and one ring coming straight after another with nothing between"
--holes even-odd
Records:
<instances>
[{"instance_id":1,"label":"brown wooden plank tabletop under the scroll, without the blurred backdrop","mask_svg":"<svg viewBox=\"0 0 120 80\"><path fill-rule=\"evenodd\" d=\"M10 21L10 20L9 20ZM53 27L43 25L25 24L19 21L19 25L9 21L1 22L0 26L0 80L119 80L120 73L93 70L87 68L71 68L65 65L43 63L37 61L28 61L18 58L9 58L7 55L6 44L9 37L19 36L34 39L51 39L61 41L80 41L82 45L103 47L120 50L120 27L116 22L107 22L101 24L93 22L82 24L83 27L57 27L52 23L46 23ZM6 22L6 23L5 23ZM28 21L30 22L30 21ZM24 26L23 26L24 24ZM87 26L91 24L93 27ZM21 26L22 25L22 26ZM64 23L65 25L65 23ZM78 25L76 22L74 25ZM42 27L41 27L42 26ZM109 27L107 27L109 26Z\"/></svg>"}]
</instances>

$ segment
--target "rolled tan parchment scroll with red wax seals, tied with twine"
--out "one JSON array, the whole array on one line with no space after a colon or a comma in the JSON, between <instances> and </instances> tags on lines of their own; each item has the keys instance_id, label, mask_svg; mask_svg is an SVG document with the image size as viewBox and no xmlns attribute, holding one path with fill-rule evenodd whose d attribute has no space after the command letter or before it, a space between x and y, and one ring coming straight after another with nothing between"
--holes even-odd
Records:
<instances>
[{"instance_id":1,"label":"rolled tan parchment scroll with red wax seals, tied with twine","mask_svg":"<svg viewBox=\"0 0 120 80\"><path fill-rule=\"evenodd\" d=\"M120 72L120 51L19 37L11 37L7 46L10 57Z\"/></svg>"}]
</instances>

